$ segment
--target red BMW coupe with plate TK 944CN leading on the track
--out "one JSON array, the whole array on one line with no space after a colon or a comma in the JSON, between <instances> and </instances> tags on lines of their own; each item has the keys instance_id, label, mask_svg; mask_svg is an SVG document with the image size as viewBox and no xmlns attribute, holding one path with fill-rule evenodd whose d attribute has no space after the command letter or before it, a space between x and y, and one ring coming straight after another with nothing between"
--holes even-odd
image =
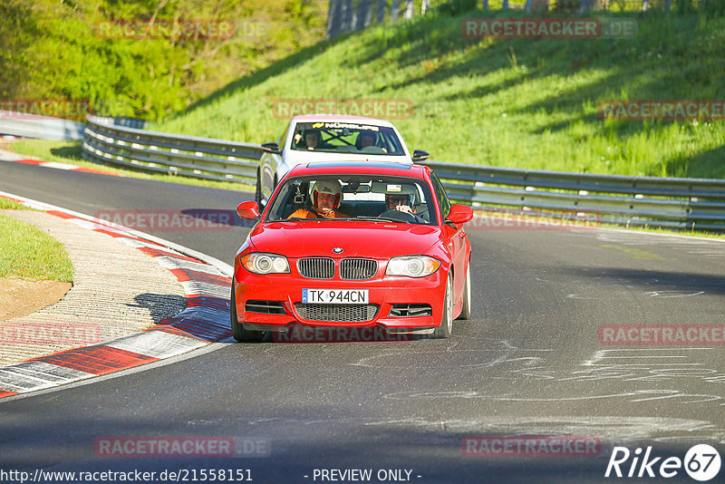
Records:
<instances>
[{"instance_id":1,"label":"red BMW coupe with plate TK 944CN leading on the track","mask_svg":"<svg viewBox=\"0 0 725 484\"><path fill-rule=\"evenodd\" d=\"M471 311L471 208L451 205L432 169L393 162L297 165L234 264L232 333L240 342L297 324L382 328L447 338Z\"/></svg>"}]
</instances>

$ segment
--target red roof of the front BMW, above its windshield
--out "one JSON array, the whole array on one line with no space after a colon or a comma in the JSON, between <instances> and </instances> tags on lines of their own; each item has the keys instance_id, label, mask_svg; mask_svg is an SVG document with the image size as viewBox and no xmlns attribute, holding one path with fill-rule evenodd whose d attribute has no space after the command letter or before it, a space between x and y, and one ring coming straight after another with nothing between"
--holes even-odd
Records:
<instances>
[{"instance_id":1,"label":"red roof of the front BMW, above its windshield","mask_svg":"<svg viewBox=\"0 0 725 484\"><path fill-rule=\"evenodd\" d=\"M388 175L424 179L427 167L394 161L313 161L300 163L291 169L289 176L304 175Z\"/></svg>"}]
</instances>

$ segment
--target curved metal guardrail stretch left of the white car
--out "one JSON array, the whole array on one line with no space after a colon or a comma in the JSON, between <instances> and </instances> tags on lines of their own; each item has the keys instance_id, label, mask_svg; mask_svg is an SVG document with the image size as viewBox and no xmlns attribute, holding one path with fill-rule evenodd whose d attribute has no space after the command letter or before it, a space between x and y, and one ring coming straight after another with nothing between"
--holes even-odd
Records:
<instances>
[{"instance_id":1,"label":"curved metal guardrail stretch left of the white car","mask_svg":"<svg viewBox=\"0 0 725 484\"><path fill-rule=\"evenodd\" d=\"M83 158L111 165L198 179L256 183L258 144L213 140L113 124L87 116Z\"/></svg>"}]
</instances>

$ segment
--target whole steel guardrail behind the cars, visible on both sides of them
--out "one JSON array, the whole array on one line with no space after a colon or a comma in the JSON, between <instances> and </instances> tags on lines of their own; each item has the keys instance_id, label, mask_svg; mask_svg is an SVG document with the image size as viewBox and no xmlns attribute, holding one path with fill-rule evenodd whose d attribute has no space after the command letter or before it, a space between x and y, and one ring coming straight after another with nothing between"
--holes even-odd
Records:
<instances>
[{"instance_id":1,"label":"whole steel guardrail behind the cars, visible on both sides of them","mask_svg":"<svg viewBox=\"0 0 725 484\"><path fill-rule=\"evenodd\" d=\"M258 144L114 126L88 117L87 160L200 179L256 182ZM546 210L652 227L725 231L725 180L665 179L426 161L449 197L478 208Z\"/></svg>"}]
</instances>

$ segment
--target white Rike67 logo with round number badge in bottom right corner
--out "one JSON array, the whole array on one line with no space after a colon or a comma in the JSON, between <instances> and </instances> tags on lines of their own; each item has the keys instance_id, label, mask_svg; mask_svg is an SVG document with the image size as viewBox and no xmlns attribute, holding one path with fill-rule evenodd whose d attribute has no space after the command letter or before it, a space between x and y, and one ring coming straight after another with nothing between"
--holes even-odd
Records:
<instances>
[{"instance_id":1,"label":"white Rike67 logo with round number badge in bottom right corner","mask_svg":"<svg viewBox=\"0 0 725 484\"><path fill-rule=\"evenodd\" d=\"M701 482L713 479L720 472L720 453L707 444L692 446L685 454L685 459L679 457L652 457L652 447L644 451L637 448L630 452L626 447L614 447L612 456L606 466L604 477L617 478L643 478L660 477L670 479L677 476L681 469L695 480ZM632 462L628 463L632 457Z\"/></svg>"}]
</instances>

